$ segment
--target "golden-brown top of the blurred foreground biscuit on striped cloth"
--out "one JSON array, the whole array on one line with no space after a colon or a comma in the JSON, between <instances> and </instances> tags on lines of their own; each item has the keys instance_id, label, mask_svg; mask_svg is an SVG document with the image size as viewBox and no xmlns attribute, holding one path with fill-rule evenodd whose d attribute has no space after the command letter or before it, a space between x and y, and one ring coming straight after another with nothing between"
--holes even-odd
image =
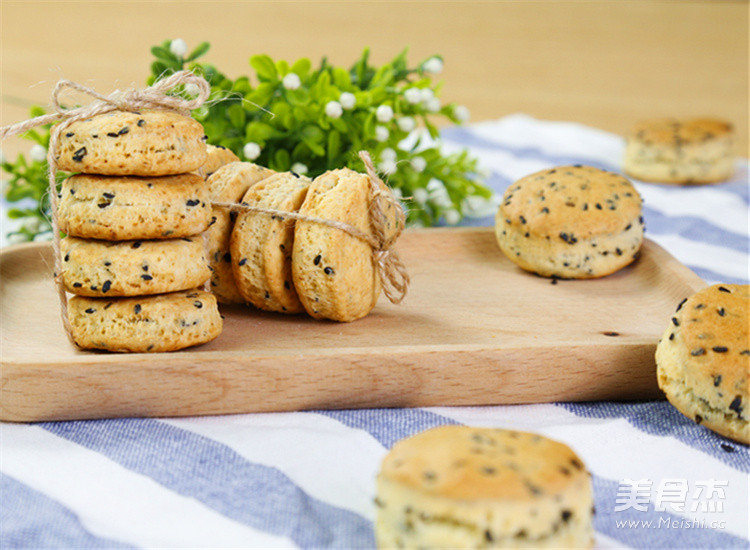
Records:
<instances>
[{"instance_id":1,"label":"golden-brown top of the blurred foreground biscuit on striped cloth","mask_svg":"<svg viewBox=\"0 0 750 550\"><path fill-rule=\"evenodd\" d=\"M445 498L528 501L561 493L588 473L568 446L541 435L440 426L397 442L381 475Z\"/></svg>"}]
</instances>

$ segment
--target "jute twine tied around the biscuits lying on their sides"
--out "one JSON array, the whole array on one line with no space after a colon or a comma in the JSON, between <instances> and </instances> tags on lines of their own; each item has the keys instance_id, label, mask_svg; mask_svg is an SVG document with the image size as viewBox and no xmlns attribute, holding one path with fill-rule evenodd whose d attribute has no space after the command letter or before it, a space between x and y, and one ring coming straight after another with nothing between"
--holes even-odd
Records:
<instances>
[{"instance_id":1,"label":"jute twine tied around the biscuits lying on their sides","mask_svg":"<svg viewBox=\"0 0 750 550\"><path fill-rule=\"evenodd\" d=\"M367 170L367 175L370 179L370 233L366 233L351 224L338 220L316 218L298 212L287 212L231 202L213 202L212 204L214 206L229 208L233 211L256 212L278 216L289 221L305 221L327 225L367 243L372 249L372 262L380 277L383 294L385 294L391 303L398 304L406 297L406 292L409 289L409 274L398 254L393 249L393 244L399 235L401 235L406 225L404 210L393 193L388 190L378 176L369 153L367 151L360 151L359 158L365 164L365 170ZM395 225L390 232L387 210L391 210L395 214Z\"/></svg>"}]
</instances>

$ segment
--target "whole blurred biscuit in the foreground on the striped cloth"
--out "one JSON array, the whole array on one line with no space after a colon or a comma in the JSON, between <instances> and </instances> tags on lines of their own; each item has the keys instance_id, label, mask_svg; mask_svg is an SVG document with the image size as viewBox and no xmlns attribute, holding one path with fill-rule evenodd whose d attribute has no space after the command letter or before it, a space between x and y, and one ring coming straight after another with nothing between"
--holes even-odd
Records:
<instances>
[{"instance_id":1,"label":"whole blurred biscuit in the foreground on the striped cloth","mask_svg":"<svg viewBox=\"0 0 750 550\"><path fill-rule=\"evenodd\" d=\"M379 548L590 548L589 473L562 443L441 426L397 442L377 477Z\"/></svg>"}]
</instances>

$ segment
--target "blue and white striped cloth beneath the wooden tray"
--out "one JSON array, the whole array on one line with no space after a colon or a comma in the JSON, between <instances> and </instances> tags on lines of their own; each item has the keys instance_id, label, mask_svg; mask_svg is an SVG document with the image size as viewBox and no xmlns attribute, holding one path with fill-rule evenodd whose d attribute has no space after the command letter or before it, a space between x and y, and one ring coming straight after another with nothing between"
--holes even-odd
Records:
<instances>
[{"instance_id":1,"label":"blue and white striped cloth beneath the wooden tray","mask_svg":"<svg viewBox=\"0 0 750 550\"><path fill-rule=\"evenodd\" d=\"M620 171L624 147L523 115L448 130L444 145L469 147L498 194L554 165ZM635 182L647 236L707 283L748 282L747 161L738 168L713 186ZM380 460L449 423L575 449L593 475L600 547L750 547L748 447L664 401L1 424L0 547L371 548Z\"/></svg>"}]
</instances>

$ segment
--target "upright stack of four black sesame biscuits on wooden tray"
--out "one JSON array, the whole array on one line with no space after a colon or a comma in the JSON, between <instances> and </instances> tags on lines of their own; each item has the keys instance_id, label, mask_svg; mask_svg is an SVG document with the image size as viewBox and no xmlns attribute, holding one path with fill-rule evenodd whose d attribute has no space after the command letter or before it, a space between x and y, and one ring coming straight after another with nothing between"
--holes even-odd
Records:
<instances>
[{"instance_id":1,"label":"upright stack of four black sesame biscuits on wooden tray","mask_svg":"<svg viewBox=\"0 0 750 550\"><path fill-rule=\"evenodd\" d=\"M73 340L84 349L174 351L219 335L202 233L212 221L202 126L171 111L77 121L60 135L58 222Z\"/></svg>"}]
</instances>

